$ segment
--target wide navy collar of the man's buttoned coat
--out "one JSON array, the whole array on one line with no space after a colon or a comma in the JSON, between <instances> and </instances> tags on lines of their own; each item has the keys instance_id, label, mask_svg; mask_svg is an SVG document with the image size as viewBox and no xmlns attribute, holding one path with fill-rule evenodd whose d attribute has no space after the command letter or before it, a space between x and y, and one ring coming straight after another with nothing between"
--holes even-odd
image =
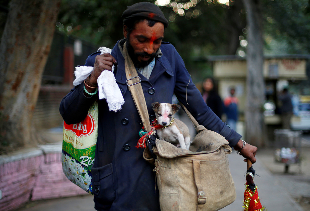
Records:
<instances>
[{"instance_id":1,"label":"wide navy collar of the man's buttoned coat","mask_svg":"<svg viewBox=\"0 0 310 211\"><path fill-rule=\"evenodd\" d=\"M122 47L121 45L124 44L126 40L119 40L117 44L114 46L112 50L112 56L116 58L117 60L117 71L115 75L115 80L117 83L126 84L126 73L125 73L125 60L124 56L122 55ZM141 81L149 81L151 83L155 82L156 79L162 75L163 73L167 73L170 76L173 76L173 71L171 66L169 65L169 62L165 55L163 55L162 51L159 49L157 51L155 56L155 66L152 71L152 74L148 79L146 79L142 74L138 73L138 75L141 78Z\"/></svg>"}]
</instances>

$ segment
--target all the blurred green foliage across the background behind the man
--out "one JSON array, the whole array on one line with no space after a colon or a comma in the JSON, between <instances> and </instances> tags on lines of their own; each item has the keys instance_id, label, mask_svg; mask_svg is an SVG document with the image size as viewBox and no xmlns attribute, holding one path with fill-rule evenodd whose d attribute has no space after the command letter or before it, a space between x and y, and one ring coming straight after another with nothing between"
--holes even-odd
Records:
<instances>
[{"instance_id":1,"label":"all the blurred green foliage across the background behind the man","mask_svg":"<svg viewBox=\"0 0 310 211\"><path fill-rule=\"evenodd\" d=\"M136 2L141 0L63 0L57 30L96 46L113 48L117 40L123 38L122 13ZM192 75L207 76L211 69L193 62L193 58L235 55L239 49L246 51L246 47L240 45L240 40L246 39L246 13L241 0L230 0L229 5L216 0L197 0L193 7L184 9L183 16L173 10L173 2L159 6L169 19L163 41L175 46ZM190 1L175 2L184 5ZM309 1L263 0L261 3L266 52L309 53Z\"/></svg>"}]
</instances>

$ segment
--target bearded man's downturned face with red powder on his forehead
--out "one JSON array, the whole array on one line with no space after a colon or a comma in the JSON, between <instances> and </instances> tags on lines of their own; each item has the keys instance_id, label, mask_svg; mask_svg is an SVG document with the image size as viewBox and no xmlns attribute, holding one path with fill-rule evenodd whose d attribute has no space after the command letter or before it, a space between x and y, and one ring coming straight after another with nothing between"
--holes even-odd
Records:
<instances>
[{"instance_id":1,"label":"bearded man's downturned face with red powder on his forehead","mask_svg":"<svg viewBox=\"0 0 310 211\"><path fill-rule=\"evenodd\" d=\"M157 22L150 27L147 20L144 20L136 23L129 37L127 36L127 27L124 26L124 37L128 40L128 53L135 65L144 67L153 60L162 44L164 24Z\"/></svg>"}]
</instances>

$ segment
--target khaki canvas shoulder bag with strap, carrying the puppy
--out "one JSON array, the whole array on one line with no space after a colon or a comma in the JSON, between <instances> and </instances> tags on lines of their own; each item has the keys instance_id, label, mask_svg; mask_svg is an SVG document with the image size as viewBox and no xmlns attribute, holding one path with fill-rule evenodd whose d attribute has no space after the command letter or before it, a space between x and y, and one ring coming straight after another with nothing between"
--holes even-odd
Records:
<instances>
[{"instance_id":1,"label":"khaki canvas shoulder bag with strap, carrying the puppy","mask_svg":"<svg viewBox=\"0 0 310 211\"><path fill-rule=\"evenodd\" d=\"M125 44L124 44L125 46ZM127 85L147 132L151 130L147 106L139 76L126 51ZM189 150L177 148L156 139L153 152L157 155L155 169L161 211L219 210L236 199L235 185L229 170L228 156L232 149L218 133L199 125L188 110L197 129ZM143 157L154 159L145 148Z\"/></svg>"}]
</instances>

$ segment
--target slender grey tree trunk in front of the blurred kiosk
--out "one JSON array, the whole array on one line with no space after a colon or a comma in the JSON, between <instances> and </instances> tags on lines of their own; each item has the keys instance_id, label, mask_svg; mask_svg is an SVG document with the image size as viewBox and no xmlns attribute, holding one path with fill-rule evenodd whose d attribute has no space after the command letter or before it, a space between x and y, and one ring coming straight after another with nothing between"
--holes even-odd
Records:
<instances>
[{"instance_id":1,"label":"slender grey tree trunk in front of the blurred kiosk","mask_svg":"<svg viewBox=\"0 0 310 211\"><path fill-rule=\"evenodd\" d=\"M263 80L263 38L262 13L259 0L243 0L246 8L248 29L247 79L246 79L246 140L255 146L264 145L264 80Z\"/></svg>"}]
</instances>

